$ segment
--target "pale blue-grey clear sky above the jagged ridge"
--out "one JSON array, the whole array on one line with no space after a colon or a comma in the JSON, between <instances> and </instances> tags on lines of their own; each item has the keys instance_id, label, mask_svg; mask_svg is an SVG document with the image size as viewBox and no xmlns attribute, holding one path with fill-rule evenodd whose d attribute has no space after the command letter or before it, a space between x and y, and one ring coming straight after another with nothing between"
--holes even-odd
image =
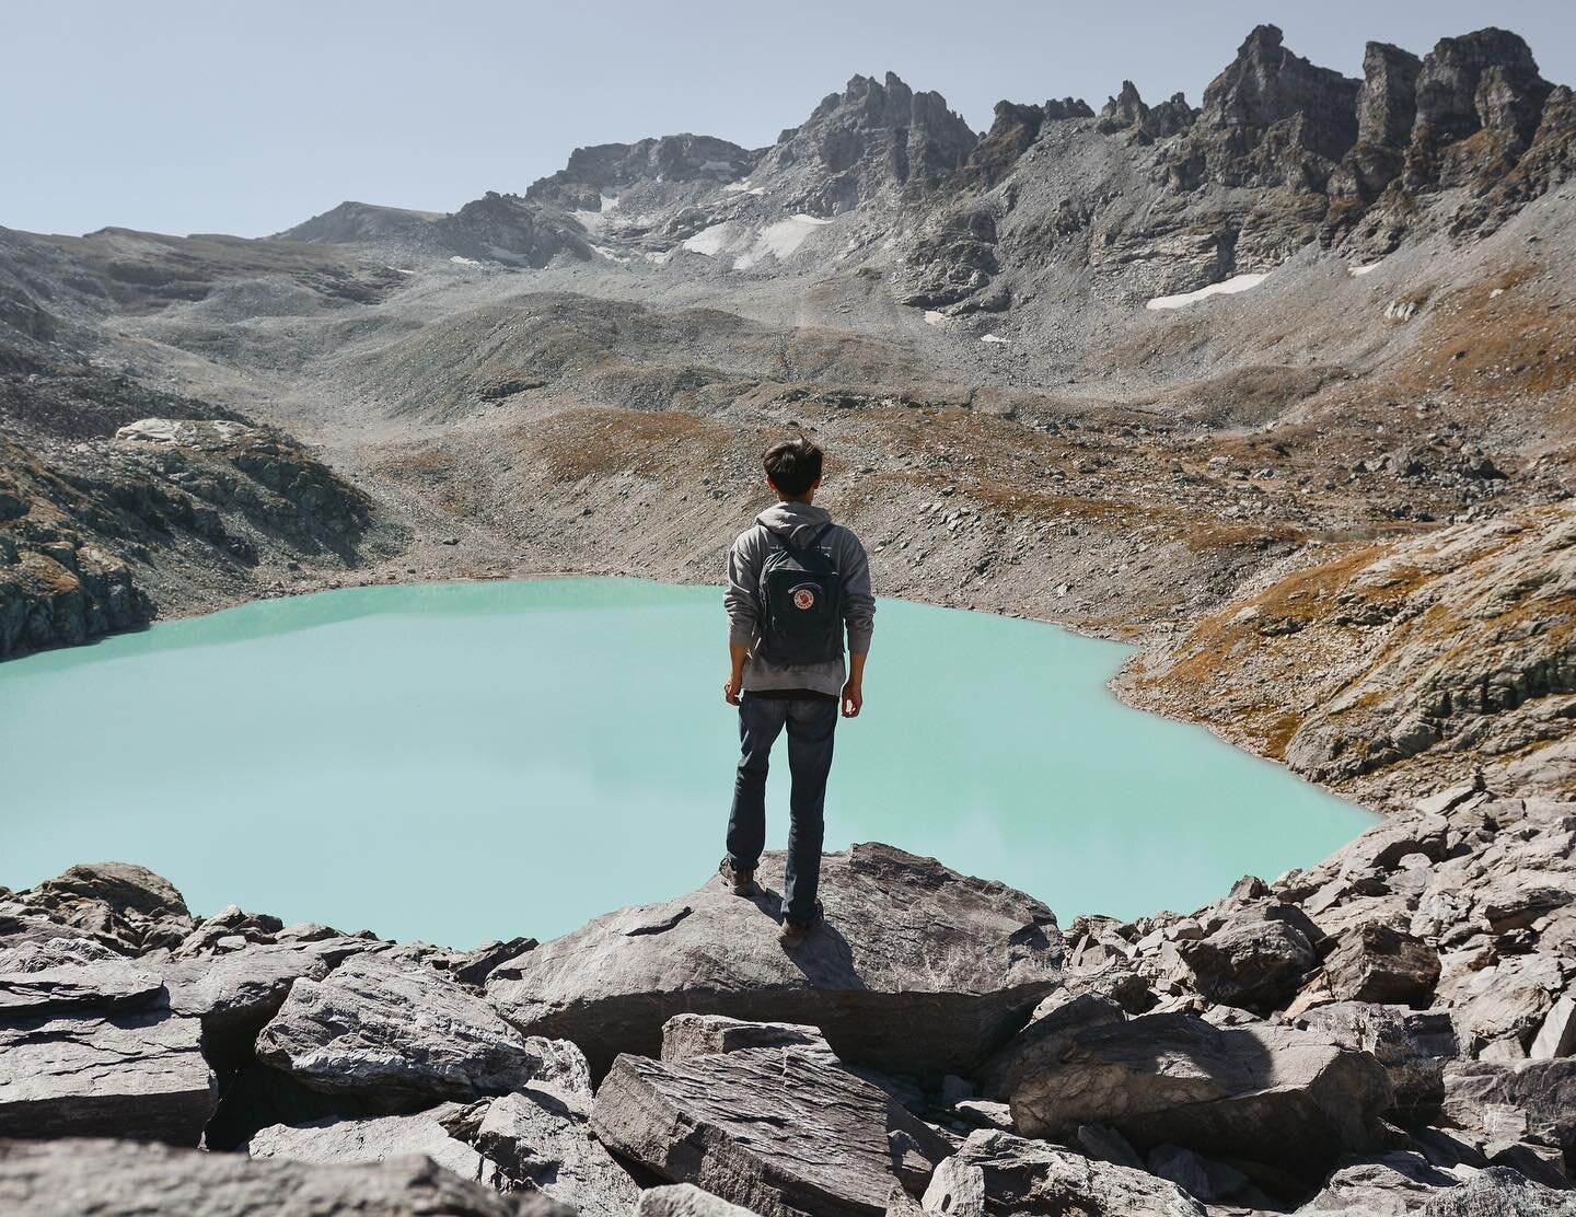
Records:
<instances>
[{"instance_id":1,"label":"pale blue-grey clear sky above the jagged ridge","mask_svg":"<svg viewBox=\"0 0 1576 1217\"><path fill-rule=\"evenodd\" d=\"M1248 30L1362 74L1483 25L1576 82L1567 0L0 0L0 225L260 236L344 199L451 211L583 143L695 131L761 147L854 73L977 129L1001 98L1124 77L1195 106Z\"/></svg>"}]
</instances>

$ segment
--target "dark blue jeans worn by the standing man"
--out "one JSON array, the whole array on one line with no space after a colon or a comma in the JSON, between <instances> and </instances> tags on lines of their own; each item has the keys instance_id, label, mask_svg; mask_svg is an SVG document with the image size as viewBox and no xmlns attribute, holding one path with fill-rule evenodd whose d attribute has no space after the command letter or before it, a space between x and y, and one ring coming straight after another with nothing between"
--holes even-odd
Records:
<instances>
[{"instance_id":1,"label":"dark blue jeans worn by the standing man","mask_svg":"<svg viewBox=\"0 0 1576 1217\"><path fill-rule=\"evenodd\" d=\"M753 870L766 848L766 763L772 744L788 728L788 865L783 870L783 916L810 921L821 886L826 777L832 771L837 703L813 698L750 697L739 702L739 771L733 779L728 817L728 859Z\"/></svg>"}]
</instances>

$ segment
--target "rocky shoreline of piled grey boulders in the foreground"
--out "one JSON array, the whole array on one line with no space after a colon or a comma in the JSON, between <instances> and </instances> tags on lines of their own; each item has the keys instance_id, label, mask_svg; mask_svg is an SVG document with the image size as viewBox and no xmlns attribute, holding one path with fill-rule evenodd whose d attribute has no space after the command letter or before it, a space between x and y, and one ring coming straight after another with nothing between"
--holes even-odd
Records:
<instances>
[{"instance_id":1,"label":"rocky shoreline of piled grey boulders in the foreground","mask_svg":"<svg viewBox=\"0 0 1576 1217\"><path fill-rule=\"evenodd\" d=\"M856 845L797 954L779 858L471 952L79 865L0 892L0 1209L1576 1212L1573 851L1463 787L1062 929Z\"/></svg>"}]
</instances>

